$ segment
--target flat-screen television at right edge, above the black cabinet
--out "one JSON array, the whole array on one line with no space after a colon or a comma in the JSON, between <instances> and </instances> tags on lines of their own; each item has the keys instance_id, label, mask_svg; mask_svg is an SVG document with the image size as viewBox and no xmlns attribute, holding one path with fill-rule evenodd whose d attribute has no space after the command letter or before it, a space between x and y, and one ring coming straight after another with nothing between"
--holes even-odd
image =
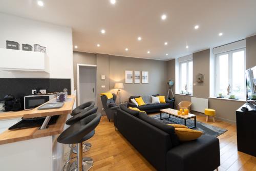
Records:
<instances>
[{"instance_id":1,"label":"flat-screen television at right edge, above the black cabinet","mask_svg":"<svg viewBox=\"0 0 256 171\"><path fill-rule=\"evenodd\" d=\"M246 100L256 103L256 66L246 70Z\"/></svg>"}]
</instances>

